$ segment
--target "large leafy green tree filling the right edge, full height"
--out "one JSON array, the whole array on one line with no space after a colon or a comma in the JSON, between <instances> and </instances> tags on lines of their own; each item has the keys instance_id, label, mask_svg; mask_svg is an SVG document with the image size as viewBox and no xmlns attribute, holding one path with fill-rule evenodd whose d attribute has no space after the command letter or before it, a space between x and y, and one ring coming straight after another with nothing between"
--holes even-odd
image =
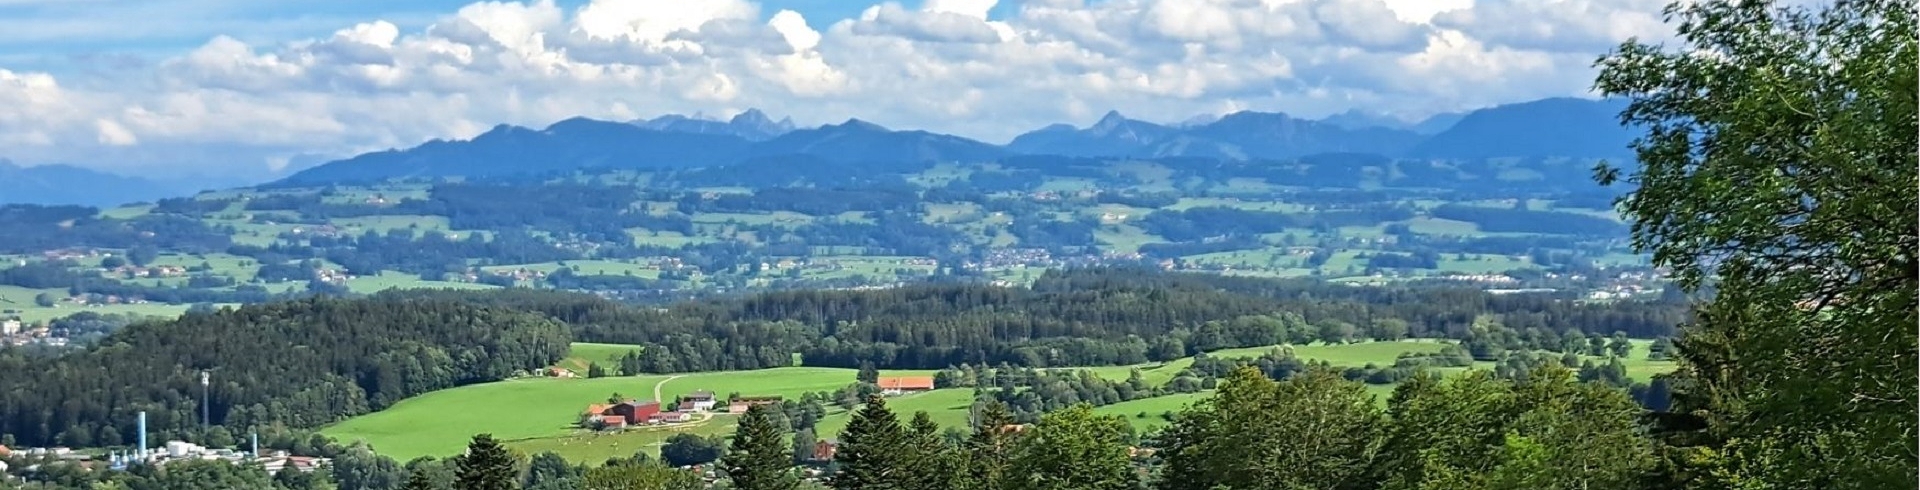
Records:
<instances>
[{"instance_id":1,"label":"large leafy green tree filling the right edge, full height","mask_svg":"<svg viewBox=\"0 0 1920 490\"><path fill-rule=\"evenodd\" d=\"M1910 2L1676 2L1626 42L1634 242L1713 290L1676 342L1667 473L1695 488L1912 488L1916 106Z\"/></svg>"}]
</instances>

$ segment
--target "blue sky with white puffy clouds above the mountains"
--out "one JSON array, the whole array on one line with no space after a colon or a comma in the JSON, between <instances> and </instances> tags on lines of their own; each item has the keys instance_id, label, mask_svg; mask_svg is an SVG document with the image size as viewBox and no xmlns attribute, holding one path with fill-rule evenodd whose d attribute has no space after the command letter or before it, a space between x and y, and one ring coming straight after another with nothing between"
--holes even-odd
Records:
<instances>
[{"instance_id":1,"label":"blue sky with white puffy clouds above the mountains","mask_svg":"<svg viewBox=\"0 0 1920 490\"><path fill-rule=\"evenodd\" d=\"M1421 119L1592 96L1667 0L0 0L0 158L300 163L586 115L1006 142L1110 110Z\"/></svg>"}]
</instances>

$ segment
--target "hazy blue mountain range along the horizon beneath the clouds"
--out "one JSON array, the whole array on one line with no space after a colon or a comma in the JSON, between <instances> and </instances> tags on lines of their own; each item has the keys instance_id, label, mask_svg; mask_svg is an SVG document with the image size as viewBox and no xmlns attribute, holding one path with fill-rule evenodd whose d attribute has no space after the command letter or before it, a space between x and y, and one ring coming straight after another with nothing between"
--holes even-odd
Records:
<instances>
[{"instance_id":1,"label":"hazy blue mountain range along the horizon beneath the clouds","mask_svg":"<svg viewBox=\"0 0 1920 490\"><path fill-rule=\"evenodd\" d=\"M818 163L995 161L1010 156L1298 159L1319 154L1380 158L1630 158L1634 133L1619 125L1620 100L1546 98L1442 113L1425 121L1346 111L1304 119L1273 111L1150 123L1108 111L1087 127L1048 125L989 144L862 119L801 129L789 117L747 110L726 121L660 115L641 121L572 117L545 129L497 125L468 140L430 140L326 161L278 186L351 184L409 177L513 177L582 169L687 169L781 159ZM179 196L190 183L121 177L69 165L0 161L0 204L108 206Z\"/></svg>"}]
</instances>

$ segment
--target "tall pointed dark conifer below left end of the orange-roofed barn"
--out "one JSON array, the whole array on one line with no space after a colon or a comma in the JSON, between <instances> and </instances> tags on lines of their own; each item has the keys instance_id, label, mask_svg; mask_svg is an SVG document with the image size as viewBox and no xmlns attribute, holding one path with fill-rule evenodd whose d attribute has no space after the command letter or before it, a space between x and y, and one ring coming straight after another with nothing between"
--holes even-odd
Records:
<instances>
[{"instance_id":1,"label":"tall pointed dark conifer below left end of the orange-roofed barn","mask_svg":"<svg viewBox=\"0 0 1920 490\"><path fill-rule=\"evenodd\" d=\"M839 473L831 486L839 490L914 490L910 486L906 429L887 409L887 400L868 396L841 430L841 446L833 453Z\"/></svg>"}]
</instances>

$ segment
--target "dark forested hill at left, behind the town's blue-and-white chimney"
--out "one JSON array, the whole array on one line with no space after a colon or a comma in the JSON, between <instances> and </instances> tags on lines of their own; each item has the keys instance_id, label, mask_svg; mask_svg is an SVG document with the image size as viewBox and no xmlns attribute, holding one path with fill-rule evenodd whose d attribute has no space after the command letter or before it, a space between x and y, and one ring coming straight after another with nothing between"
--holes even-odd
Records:
<instances>
[{"instance_id":1,"label":"dark forested hill at left, behind the town's blue-and-white chimney","mask_svg":"<svg viewBox=\"0 0 1920 490\"><path fill-rule=\"evenodd\" d=\"M156 438L200 421L319 427L401 398L499 380L566 355L566 327L463 302L371 298L246 306L113 331L54 359L0 348L0 432L21 446L119 446L148 413Z\"/></svg>"}]
</instances>

